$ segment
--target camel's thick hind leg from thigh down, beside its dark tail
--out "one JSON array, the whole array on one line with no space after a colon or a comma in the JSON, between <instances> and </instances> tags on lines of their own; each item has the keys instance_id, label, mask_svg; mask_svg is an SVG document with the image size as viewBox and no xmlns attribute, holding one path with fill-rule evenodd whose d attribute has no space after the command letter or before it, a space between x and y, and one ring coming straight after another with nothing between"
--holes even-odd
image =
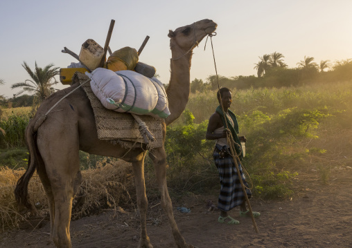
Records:
<instances>
[{"instance_id":1,"label":"camel's thick hind leg from thigh down, beside its dark tail","mask_svg":"<svg viewBox=\"0 0 352 248\"><path fill-rule=\"evenodd\" d=\"M69 132L66 128L60 135L55 132L38 132L38 134L38 149L45 166L45 173L42 171L41 179L44 179L43 184L50 185L46 187L46 193L52 202L53 242L58 248L71 248L69 228L72 201L81 180L78 133L74 130Z\"/></svg>"}]
</instances>

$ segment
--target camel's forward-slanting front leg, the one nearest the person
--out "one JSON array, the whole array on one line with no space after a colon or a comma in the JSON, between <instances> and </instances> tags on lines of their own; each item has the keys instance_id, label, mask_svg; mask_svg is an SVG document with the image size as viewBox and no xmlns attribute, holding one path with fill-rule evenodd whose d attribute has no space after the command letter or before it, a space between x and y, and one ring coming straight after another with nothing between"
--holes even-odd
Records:
<instances>
[{"instance_id":1,"label":"camel's forward-slanting front leg, the one nearest the person","mask_svg":"<svg viewBox=\"0 0 352 248\"><path fill-rule=\"evenodd\" d=\"M161 206L168 216L168 222L173 231L173 236L177 247L179 248L193 248L193 245L188 245L184 241L179 229L177 227L175 217L173 215L173 203L171 202L170 195L168 194L168 186L166 183L166 153L164 147L154 149L149 153L155 168L155 175L159 184L161 193Z\"/></svg>"}]
</instances>

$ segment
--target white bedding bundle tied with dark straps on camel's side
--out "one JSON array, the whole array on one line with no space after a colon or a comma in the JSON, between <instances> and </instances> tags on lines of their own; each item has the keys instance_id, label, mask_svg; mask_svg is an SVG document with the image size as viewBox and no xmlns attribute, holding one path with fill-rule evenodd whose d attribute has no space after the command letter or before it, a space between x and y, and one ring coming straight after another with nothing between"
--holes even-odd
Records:
<instances>
[{"instance_id":1,"label":"white bedding bundle tied with dark straps on camel's side","mask_svg":"<svg viewBox=\"0 0 352 248\"><path fill-rule=\"evenodd\" d=\"M105 68L85 74L91 79L91 90L107 109L158 118L170 115L164 85L155 77Z\"/></svg>"}]
</instances>

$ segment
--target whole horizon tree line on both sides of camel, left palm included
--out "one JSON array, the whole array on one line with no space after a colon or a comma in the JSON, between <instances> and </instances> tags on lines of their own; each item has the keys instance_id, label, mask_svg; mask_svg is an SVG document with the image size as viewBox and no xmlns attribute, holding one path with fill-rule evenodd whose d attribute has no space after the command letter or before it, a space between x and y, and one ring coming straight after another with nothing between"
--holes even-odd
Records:
<instances>
[{"instance_id":1,"label":"whole horizon tree line on both sides of camel, left palm included","mask_svg":"<svg viewBox=\"0 0 352 248\"><path fill-rule=\"evenodd\" d=\"M257 76L224 77L219 75L217 77L210 75L205 82L196 78L191 82L191 92L215 90L218 88L218 82L222 87L245 89L299 86L308 82L336 82L352 79L352 59L336 61L333 64L329 60L323 60L317 64L314 57L305 56L297 63L297 68L288 68L283 58L284 56L277 52L259 57L258 63L254 64ZM0 106L35 106L37 108L46 97L56 91L53 86L58 84L55 76L59 75L59 67L49 64L41 68L35 62L35 68L32 70L25 61L22 67L30 79L12 84L12 89L19 88L20 91L10 99L0 95ZM5 82L0 79L0 85L3 84ZM28 95L22 95L23 93L28 93Z\"/></svg>"}]
</instances>

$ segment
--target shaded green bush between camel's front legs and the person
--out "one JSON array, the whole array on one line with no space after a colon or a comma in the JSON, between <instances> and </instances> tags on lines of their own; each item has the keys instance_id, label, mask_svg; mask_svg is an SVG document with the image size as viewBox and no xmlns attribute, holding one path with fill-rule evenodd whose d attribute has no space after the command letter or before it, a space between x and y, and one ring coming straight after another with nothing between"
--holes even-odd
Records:
<instances>
[{"instance_id":1,"label":"shaded green bush between camel's front legs and the person","mask_svg":"<svg viewBox=\"0 0 352 248\"><path fill-rule=\"evenodd\" d=\"M184 111L184 122L168 126L165 141L168 167L168 185L174 192L204 192L218 186L218 172L213 165L213 141L205 140L208 121L195 124L190 111ZM146 171L155 181L150 161Z\"/></svg>"}]
</instances>

